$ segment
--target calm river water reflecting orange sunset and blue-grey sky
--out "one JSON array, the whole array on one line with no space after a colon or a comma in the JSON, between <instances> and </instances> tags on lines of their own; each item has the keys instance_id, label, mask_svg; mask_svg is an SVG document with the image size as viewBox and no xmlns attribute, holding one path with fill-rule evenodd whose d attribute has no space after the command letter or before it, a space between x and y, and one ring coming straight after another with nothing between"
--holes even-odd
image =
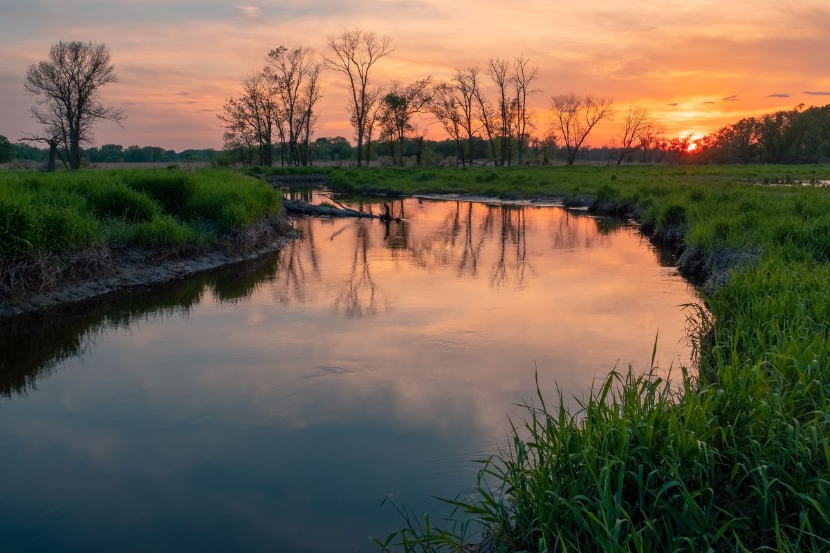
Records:
<instances>
[{"instance_id":1,"label":"calm river water reflecting orange sunset and blue-grey sky","mask_svg":"<svg viewBox=\"0 0 830 553\"><path fill-rule=\"evenodd\" d=\"M695 290L623 221L387 200L282 252L6 323L0 550L376 551L553 400L689 361ZM370 207L368 198L350 205Z\"/></svg>"}]
</instances>

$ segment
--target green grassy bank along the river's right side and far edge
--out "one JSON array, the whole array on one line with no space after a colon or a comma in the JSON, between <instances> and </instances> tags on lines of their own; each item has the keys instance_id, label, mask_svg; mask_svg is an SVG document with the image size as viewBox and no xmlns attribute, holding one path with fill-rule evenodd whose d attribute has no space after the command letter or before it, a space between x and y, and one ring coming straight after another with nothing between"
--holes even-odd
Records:
<instances>
[{"instance_id":1,"label":"green grassy bank along the river's right side and far edge","mask_svg":"<svg viewBox=\"0 0 830 553\"><path fill-rule=\"evenodd\" d=\"M637 376L647 367L612 373L577 413L535 398L510 448L453 502L454 520L409 513L382 546L452 550L483 539L486 551L830 551L830 188L801 185L830 179L830 167L329 178L348 192L562 197L631 213L679 246L687 270L710 278L709 314L691 330L699 371L678 371L671 385Z\"/></svg>"}]
</instances>

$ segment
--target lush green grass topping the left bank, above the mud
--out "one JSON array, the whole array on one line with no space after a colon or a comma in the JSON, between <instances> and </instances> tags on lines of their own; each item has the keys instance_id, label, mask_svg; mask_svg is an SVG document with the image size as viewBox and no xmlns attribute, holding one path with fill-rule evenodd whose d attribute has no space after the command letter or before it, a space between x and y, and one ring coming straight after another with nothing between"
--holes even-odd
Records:
<instances>
[{"instance_id":1,"label":"lush green grass topping the left bank, above the mud","mask_svg":"<svg viewBox=\"0 0 830 553\"><path fill-rule=\"evenodd\" d=\"M278 192L234 172L3 172L0 260L94 244L203 246L280 208Z\"/></svg>"}]
</instances>

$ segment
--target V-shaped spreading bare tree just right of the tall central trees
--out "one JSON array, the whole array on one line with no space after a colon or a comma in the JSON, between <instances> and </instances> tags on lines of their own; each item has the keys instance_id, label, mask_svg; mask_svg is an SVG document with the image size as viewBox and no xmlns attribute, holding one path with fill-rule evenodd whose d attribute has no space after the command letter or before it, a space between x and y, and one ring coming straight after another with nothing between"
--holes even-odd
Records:
<instances>
[{"instance_id":1,"label":"V-shaped spreading bare tree just right of the tall central trees","mask_svg":"<svg viewBox=\"0 0 830 553\"><path fill-rule=\"evenodd\" d=\"M568 165L574 164L579 148L594 126L613 113L612 104L613 99L610 98L575 95L573 92L551 96L554 132L567 150Z\"/></svg>"}]
</instances>

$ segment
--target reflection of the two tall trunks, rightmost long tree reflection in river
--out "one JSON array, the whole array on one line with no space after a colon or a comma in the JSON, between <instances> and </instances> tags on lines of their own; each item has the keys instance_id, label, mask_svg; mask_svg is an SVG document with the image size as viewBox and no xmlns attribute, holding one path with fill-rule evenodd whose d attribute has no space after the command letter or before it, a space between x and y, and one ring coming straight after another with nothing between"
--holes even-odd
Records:
<instances>
[{"instance_id":1,"label":"reflection of the two tall trunks, rightmost long tree reflection in river","mask_svg":"<svg viewBox=\"0 0 830 553\"><path fill-rule=\"evenodd\" d=\"M524 206L491 207L491 211L496 210L500 211L501 233L490 284L494 288L524 286L528 272L535 274L527 259L527 211Z\"/></svg>"}]
</instances>

